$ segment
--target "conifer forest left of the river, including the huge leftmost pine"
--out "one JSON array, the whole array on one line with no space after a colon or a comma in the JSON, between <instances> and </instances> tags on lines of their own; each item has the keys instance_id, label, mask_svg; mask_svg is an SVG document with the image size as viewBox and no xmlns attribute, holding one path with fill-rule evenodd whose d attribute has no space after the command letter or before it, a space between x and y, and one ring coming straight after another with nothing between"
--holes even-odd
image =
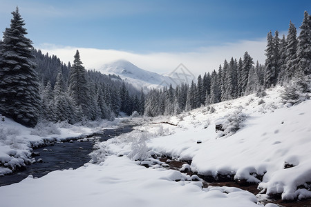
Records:
<instances>
[{"instance_id":1,"label":"conifer forest left of the river, including the huge leftmost pine","mask_svg":"<svg viewBox=\"0 0 311 207\"><path fill-rule=\"evenodd\" d=\"M19 8L12 15L0 41L1 115L33 127L39 119L75 124L144 111L140 91L120 77L86 71L78 50L72 66L34 50Z\"/></svg>"}]
</instances>

